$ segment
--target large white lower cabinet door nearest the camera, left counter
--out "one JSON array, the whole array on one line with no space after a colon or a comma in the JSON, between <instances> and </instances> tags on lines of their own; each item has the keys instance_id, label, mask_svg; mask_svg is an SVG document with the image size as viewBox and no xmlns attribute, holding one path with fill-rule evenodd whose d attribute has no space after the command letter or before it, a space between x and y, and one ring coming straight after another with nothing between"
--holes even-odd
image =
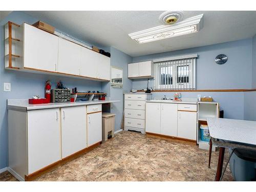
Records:
<instances>
[{"instance_id":1,"label":"large white lower cabinet door nearest the camera, left counter","mask_svg":"<svg viewBox=\"0 0 256 192\"><path fill-rule=\"evenodd\" d=\"M28 111L28 174L60 159L59 109Z\"/></svg>"}]
</instances>

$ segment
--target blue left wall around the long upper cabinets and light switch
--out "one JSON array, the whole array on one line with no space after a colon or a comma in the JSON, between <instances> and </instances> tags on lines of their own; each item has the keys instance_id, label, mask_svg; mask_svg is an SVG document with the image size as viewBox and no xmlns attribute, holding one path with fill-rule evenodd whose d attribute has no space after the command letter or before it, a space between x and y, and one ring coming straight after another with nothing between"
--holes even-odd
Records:
<instances>
[{"instance_id":1,"label":"blue left wall around the long upper cabinets and light switch","mask_svg":"<svg viewBox=\"0 0 256 192\"><path fill-rule=\"evenodd\" d=\"M67 86L68 88L77 87L78 91L101 90L101 82L97 81L5 70L4 25L9 20L17 24L22 24L23 22L33 24L38 19L33 18L30 15L25 14L24 12L14 11L0 22L0 39L2 45L0 46L0 169L8 165L8 125L6 110L7 99L31 98L34 95L40 95L41 97L44 97L44 87L45 81L47 79L50 79L53 82L54 86L56 85L56 81L61 79L65 83L65 86ZM3 91L4 82L11 83L11 92Z\"/></svg>"}]
</instances>

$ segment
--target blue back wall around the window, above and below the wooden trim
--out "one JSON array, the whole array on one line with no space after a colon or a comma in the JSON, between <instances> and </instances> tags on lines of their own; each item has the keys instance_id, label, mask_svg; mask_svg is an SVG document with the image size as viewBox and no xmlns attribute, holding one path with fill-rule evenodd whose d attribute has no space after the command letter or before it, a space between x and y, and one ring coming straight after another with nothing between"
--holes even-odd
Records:
<instances>
[{"instance_id":1,"label":"blue back wall around the window, above and below the wooden trim","mask_svg":"<svg viewBox=\"0 0 256 192\"><path fill-rule=\"evenodd\" d=\"M252 39L243 39L223 44L204 46L192 49L178 50L151 55L134 57L133 62L152 60L156 58L177 55L199 55L196 69L196 87L203 89L250 89L252 68ZM215 57L224 53L228 61L224 65L217 65ZM134 80L133 89L145 89L146 79ZM154 88L154 80L149 83ZM244 119L244 93L243 92L182 92L183 98L197 98L197 95L211 96L220 103L225 118ZM174 97L174 92L153 93L153 97ZM247 108L245 108L247 109Z\"/></svg>"}]
</instances>

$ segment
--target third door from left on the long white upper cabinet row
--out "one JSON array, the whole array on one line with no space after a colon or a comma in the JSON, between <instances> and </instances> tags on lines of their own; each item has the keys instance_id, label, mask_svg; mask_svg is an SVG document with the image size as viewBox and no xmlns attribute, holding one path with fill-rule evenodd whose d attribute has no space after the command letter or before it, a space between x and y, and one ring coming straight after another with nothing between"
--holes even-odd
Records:
<instances>
[{"instance_id":1,"label":"third door from left on the long white upper cabinet row","mask_svg":"<svg viewBox=\"0 0 256 192\"><path fill-rule=\"evenodd\" d=\"M98 78L98 54L87 48L81 48L81 75Z\"/></svg>"}]
</instances>

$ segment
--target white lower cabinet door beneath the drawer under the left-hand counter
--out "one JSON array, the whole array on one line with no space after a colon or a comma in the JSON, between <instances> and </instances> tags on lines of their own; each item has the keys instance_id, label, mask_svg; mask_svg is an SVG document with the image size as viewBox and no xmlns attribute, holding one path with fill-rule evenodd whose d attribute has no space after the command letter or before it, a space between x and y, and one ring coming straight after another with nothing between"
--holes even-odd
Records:
<instances>
[{"instance_id":1,"label":"white lower cabinet door beneath the drawer under the left-hand counter","mask_svg":"<svg viewBox=\"0 0 256 192\"><path fill-rule=\"evenodd\" d=\"M87 146L102 141L101 112L87 114Z\"/></svg>"}]
</instances>

